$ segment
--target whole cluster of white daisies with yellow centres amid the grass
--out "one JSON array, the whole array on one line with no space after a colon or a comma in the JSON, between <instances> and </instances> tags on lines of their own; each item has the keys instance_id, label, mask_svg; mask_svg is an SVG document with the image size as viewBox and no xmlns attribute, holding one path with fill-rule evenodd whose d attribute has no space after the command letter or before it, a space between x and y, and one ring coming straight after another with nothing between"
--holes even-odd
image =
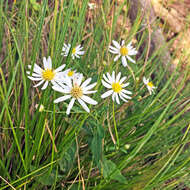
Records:
<instances>
[{"instance_id":1,"label":"whole cluster of white daisies with yellow centres amid the grass","mask_svg":"<svg viewBox=\"0 0 190 190\"><path fill-rule=\"evenodd\" d=\"M121 45L112 41L114 46L109 46L109 51L113 54L116 54L114 61L117 61L121 57L121 62L124 67L127 66L127 60L135 63L130 56L136 55L137 51L132 47L130 42L127 46L123 40ZM71 51L72 59L80 58L81 55L84 55L82 51L83 47L78 45L77 47L71 50L70 44L64 44L62 48L62 55L68 56ZM37 64L34 64L32 75L31 71L27 71L28 78L32 81L39 81L34 87L38 87L43 84L42 90L46 89L48 83L52 83L52 89L63 93L64 95L54 100L54 103L59 103L67 99L71 99L68 104L66 114L70 114L70 111L74 105L75 100L77 100L85 111L90 112L86 103L91 105L96 105L97 101L87 96L88 94L93 94L96 90L92 90L96 86L96 82L90 84L92 78L88 78L83 82L83 74L77 73L76 70L66 69L65 64L61 65L57 69L52 69L51 58L43 58L44 69L40 68ZM32 66L28 65L28 68L31 70ZM108 91L101 95L101 98L106 98L112 96L112 100L116 101L117 104L120 104L120 99L124 102L127 102L128 99L131 99L129 95L132 94L131 91L125 89L129 83L124 83L127 77L121 77L121 72L117 75L115 71L110 75L109 73L103 74L102 84L105 86ZM152 82L149 82L149 79L143 77L143 82L147 86L147 89L150 95L153 92L153 89L156 88Z\"/></svg>"}]
</instances>

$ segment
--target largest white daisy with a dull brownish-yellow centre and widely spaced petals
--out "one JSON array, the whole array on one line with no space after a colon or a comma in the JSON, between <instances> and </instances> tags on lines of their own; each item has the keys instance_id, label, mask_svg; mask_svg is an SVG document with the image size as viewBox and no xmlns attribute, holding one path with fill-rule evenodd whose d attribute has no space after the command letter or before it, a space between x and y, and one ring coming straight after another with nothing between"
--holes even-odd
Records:
<instances>
[{"instance_id":1,"label":"largest white daisy with a dull brownish-yellow centre and widely spaced petals","mask_svg":"<svg viewBox=\"0 0 190 190\"><path fill-rule=\"evenodd\" d=\"M67 107L67 111L66 111L67 115L69 115L69 113L74 105L75 100L78 100L78 102L81 104L81 106L87 112L90 112L90 110L89 110L88 106L86 105L86 103L92 104L92 105L97 104L97 102L95 100L86 96L86 94L92 94L92 93L96 92L96 90L91 90L92 88L94 88L96 83L89 85L90 81L92 80L91 78L88 78L87 80L85 80L82 83L82 78L83 78L83 75L80 74L79 77L76 77L73 80L68 80L66 85L59 84L59 85L55 85L52 87L55 91L66 94L65 96L61 96L60 98L57 98L56 100L54 100L54 103L62 102L62 101L65 101L65 100L71 98L71 101L70 101L70 103Z\"/></svg>"}]
</instances>

